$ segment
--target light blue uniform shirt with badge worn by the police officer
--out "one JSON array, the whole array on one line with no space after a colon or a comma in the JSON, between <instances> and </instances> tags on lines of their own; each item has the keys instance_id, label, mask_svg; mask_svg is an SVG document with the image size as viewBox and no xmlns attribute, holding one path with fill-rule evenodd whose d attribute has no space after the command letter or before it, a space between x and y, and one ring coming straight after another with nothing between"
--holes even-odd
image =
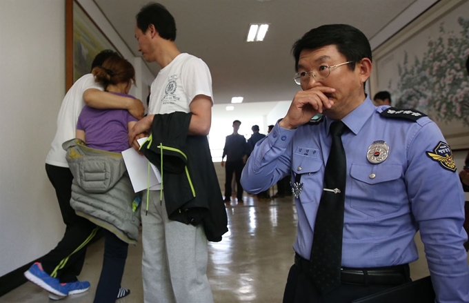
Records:
<instances>
[{"instance_id":1,"label":"light blue uniform shirt with badge worn by the police officer","mask_svg":"<svg viewBox=\"0 0 469 303\"><path fill-rule=\"evenodd\" d=\"M342 266L379 267L417 260L414 235L420 230L438 302L469 302L469 268L463 242L464 194L456 170L428 153L444 150L445 139L428 117L417 121L383 117L388 106L367 98L342 119L347 180ZM241 184L249 193L268 189L286 175L301 174L295 199L295 251L310 258L315 218L323 193L324 169L332 139L331 119L286 130L277 123L248 159ZM386 141L388 157L368 161L368 148ZM442 143L440 143L442 142ZM439 150L437 148L440 147ZM440 159L441 160L441 159Z\"/></svg>"}]
</instances>

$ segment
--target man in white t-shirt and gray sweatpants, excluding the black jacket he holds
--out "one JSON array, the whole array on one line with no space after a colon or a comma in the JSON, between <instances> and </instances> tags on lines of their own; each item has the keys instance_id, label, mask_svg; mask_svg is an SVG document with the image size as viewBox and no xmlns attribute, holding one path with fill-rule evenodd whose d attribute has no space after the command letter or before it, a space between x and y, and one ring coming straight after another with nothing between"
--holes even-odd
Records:
<instances>
[{"instance_id":1,"label":"man in white t-shirt and gray sweatpants, excluding the black jacket he holds","mask_svg":"<svg viewBox=\"0 0 469 303\"><path fill-rule=\"evenodd\" d=\"M179 52L170 12L159 3L141 8L135 37L143 59L157 62L161 70L151 86L148 116L130 131L130 144L138 150L136 139L150 130L154 114L176 111L192 113L188 135L208 135L212 115L210 71L201 59ZM148 198L148 206L142 207L144 301L213 302L206 275L208 245L203 224L193 226L168 219L159 190L150 190Z\"/></svg>"}]
</instances>

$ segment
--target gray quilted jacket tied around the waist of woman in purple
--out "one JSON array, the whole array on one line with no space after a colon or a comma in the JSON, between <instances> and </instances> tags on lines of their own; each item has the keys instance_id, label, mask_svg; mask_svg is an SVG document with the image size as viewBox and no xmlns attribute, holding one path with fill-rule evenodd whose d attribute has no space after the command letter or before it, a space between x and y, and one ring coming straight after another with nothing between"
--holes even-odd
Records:
<instances>
[{"instance_id":1,"label":"gray quilted jacket tied around the waist of woman in purple","mask_svg":"<svg viewBox=\"0 0 469 303\"><path fill-rule=\"evenodd\" d=\"M70 205L77 215L136 244L140 210L121 153L89 148L80 139L66 141L66 159L74 177Z\"/></svg>"}]
</instances>

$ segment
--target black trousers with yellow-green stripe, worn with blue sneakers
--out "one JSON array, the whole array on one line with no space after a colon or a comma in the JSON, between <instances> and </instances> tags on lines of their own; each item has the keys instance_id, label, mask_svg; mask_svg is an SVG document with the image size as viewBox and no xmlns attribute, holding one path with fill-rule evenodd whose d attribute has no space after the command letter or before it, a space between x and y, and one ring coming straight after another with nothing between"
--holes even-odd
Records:
<instances>
[{"instance_id":1,"label":"black trousers with yellow-green stripe, worn with blue sneakers","mask_svg":"<svg viewBox=\"0 0 469 303\"><path fill-rule=\"evenodd\" d=\"M66 230L59 244L41 259L41 264L46 273L59 278L61 283L75 282L85 262L86 245L98 228L79 217L70 206L73 179L70 169L46 164L46 173L55 188Z\"/></svg>"}]
</instances>

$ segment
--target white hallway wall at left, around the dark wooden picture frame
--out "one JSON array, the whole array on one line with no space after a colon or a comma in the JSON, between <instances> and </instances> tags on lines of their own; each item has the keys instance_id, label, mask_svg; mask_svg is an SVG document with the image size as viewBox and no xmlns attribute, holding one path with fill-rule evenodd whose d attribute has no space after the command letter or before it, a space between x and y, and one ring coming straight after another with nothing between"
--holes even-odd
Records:
<instances>
[{"instance_id":1,"label":"white hallway wall at left, around the dark wooden picture frame","mask_svg":"<svg viewBox=\"0 0 469 303\"><path fill-rule=\"evenodd\" d=\"M83 8L131 63L139 88L152 81L92 0ZM64 224L44 160L65 95L65 1L0 0L0 276L41 257ZM146 99L147 88L131 90Z\"/></svg>"}]
</instances>

